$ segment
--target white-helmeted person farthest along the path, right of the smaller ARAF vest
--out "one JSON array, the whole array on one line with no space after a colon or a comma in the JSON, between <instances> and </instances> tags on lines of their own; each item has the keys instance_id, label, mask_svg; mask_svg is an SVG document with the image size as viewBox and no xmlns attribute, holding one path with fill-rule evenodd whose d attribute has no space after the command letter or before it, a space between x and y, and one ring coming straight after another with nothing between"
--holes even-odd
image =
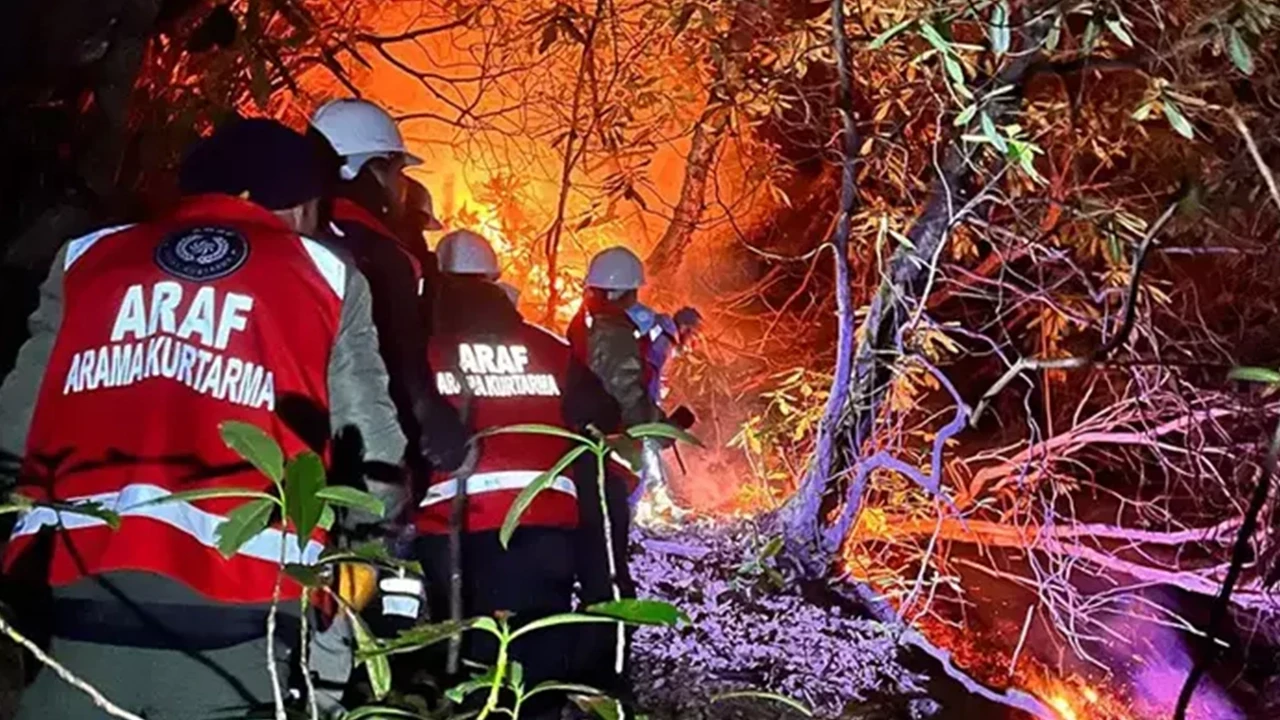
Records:
<instances>
[{"instance_id":1,"label":"white-helmeted person farthest along the path, right of the smaller ARAF vest","mask_svg":"<svg viewBox=\"0 0 1280 720\"><path fill-rule=\"evenodd\" d=\"M687 429L694 423L689 409L668 418L659 406L662 366L653 359L653 346L663 331L657 313L639 301L643 286L644 264L635 252L621 246L598 252L588 265L582 306L570 322L570 343L618 401L625 427L669 421ZM644 438L637 445L630 464L641 487L632 497L649 495L653 506L637 509L636 521L648 521L649 515L678 518L682 511L667 493L669 471L662 460L667 443Z\"/></svg>"}]
</instances>

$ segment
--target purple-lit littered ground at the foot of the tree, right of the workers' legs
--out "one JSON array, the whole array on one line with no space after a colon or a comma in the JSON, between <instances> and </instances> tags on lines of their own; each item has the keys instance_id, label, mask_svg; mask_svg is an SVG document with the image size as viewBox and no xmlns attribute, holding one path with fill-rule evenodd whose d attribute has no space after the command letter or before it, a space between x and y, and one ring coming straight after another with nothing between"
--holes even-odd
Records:
<instances>
[{"instance_id":1,"label":"purple-lit littered ground at the foot of the tree, right of the workers' legs","mask_svg":"<svg viewBox=\"0 0 1280 720\"><path fill-rule=\"evenodd\" d=\"M900 662L886 625L836 605L814 603L773 566L767 538L750 524L636 529L631 573L641 598L684 610L681 629L641 628L632 679L654 717L795 715L760 697L794 698L819 717L929 717L925 678Z\"/></svg>"}]
</instances>

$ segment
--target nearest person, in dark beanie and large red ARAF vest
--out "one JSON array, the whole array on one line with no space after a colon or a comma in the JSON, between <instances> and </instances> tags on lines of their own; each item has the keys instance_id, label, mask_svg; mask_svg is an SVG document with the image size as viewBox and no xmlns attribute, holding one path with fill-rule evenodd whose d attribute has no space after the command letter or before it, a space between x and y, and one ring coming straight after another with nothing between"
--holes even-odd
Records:
<instances>
[{"instance_id":1,"label":"nearest person, in dark beanie and large red ARAF vest","mask_svg":"<svg viewBox=\"0 0 1280 720\"><path fill-rule=\"evenodd\" d=\"M218 131L186 159L183 200L157 220L64 246L0 388L0 450L23 455L20 516L4 556L19 596L50 588L51 655L125 710L204 720L270 706L266 618L279 562L314 562L328 533L300 541L271 521L229 557L228 519L274 492L219 434L237 420L287 457L355 437L346 459L394 510L404 437L387 392L365 278L311 240L324 172L312 143L271 120ZM330 473L330 483L340 477ZM113 529L68 505L114 512ZM343 514L351 533L378 521ZM26 580L26 582L23 582ZM29 584L28 584L29 583ZM279 585L275 659L287 678L302 588ZM44 671L23 720L102 717Z\"/></svg>"}]
</instances>

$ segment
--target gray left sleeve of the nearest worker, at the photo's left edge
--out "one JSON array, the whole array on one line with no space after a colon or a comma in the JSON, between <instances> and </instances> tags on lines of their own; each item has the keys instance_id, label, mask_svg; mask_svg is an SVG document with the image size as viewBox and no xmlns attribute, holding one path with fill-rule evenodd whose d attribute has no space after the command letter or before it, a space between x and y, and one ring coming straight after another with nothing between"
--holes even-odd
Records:
<instances>
[{"instance_id":1,"label":"gray left sleeve of the nearest worker, at the photo's left edge","mask_svg":"<svg viewBox=\"0 0 1280 720\"><path fill-rule=\"evenodd\" d=\"M58 251L49 277L40 286L40 306L28 320L31 338L18 351L13 373L0 386L0 484L17 480L22 456L27 451L27 432L40 396L40 383L63 324L63 270L67 247Z\"/></svg>"}]
</instances>

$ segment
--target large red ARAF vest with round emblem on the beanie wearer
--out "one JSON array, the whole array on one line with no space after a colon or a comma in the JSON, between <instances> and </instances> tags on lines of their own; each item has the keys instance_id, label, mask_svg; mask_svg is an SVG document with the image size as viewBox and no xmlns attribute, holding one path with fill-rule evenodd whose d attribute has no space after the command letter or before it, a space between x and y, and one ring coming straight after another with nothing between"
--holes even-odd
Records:
<instances>
[{"instance_id":1,"label":"large red ARAF vest with round emblem on the beanie wearer","mask_svg":"<svg viewBox=\"0 0 1280 720\"><path fill-rule=\"evenodd\" d=\"M300 552L296 536L273 527L228 560L218 525L246 500L145 503L204 488L274 491L224 445L219 424L252 423L287 457L308 450L275 411L284 401L329 405L346 265L262 208L210 195L159 222L74 240L64 268L61 325L18 491L95 501L122 524L36 509L18 520L5 566L58 525L55 587L141 570L215 601L270 602L282 552L314 561L323 532ZM300 593L285 583L285 598Z\"/></svg>"}]
</instances>

